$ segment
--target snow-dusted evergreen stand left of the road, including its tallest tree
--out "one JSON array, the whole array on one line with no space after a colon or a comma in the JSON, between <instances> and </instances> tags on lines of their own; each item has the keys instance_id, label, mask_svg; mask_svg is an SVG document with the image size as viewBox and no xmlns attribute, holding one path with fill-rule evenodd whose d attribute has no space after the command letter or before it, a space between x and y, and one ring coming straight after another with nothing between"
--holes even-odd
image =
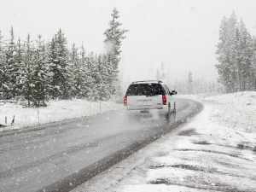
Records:
<instances>
[{"instance_id":1,"label":"snow-dusted evergreen stand left of the road, including its tallest tree","mask_svg":"<svg viewBox=\"0 0 256 192\"><path fill-rule=\"evenodd\" d=\"M119 12L113 9L104 32L105 53L86 52L84 45L68 47L61 29L49 41L42 35L4 40L0 32L0 100L24 101L28 107L46 106L49 99L83 98L106 101L120 96L118 66L121 41Z\"/></svg>"}]
</instances>

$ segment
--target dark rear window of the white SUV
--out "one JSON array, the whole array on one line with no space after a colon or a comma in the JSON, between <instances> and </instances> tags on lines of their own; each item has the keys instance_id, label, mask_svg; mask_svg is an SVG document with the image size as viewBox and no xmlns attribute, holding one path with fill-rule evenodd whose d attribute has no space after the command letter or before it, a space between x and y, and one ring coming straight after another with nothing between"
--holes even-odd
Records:
<instances>
[{"instance_id":1,"label":"dark rear window of the white SUV","mask_svg":"<svg viewBox=\"0 0 256 192\"><path fill-rule=\"evenodd\" d=\"M130 84L126 96L154 96L164 95L160 84Z\"/></svg>"}]
</instances>

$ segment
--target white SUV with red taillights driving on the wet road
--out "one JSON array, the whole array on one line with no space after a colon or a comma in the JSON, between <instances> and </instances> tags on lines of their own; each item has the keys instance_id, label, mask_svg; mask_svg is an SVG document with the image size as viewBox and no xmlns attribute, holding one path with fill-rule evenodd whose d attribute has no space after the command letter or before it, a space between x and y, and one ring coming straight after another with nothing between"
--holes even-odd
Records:
<instances>
[{"instance_id":1,"label":"white SUV with red taillights driving on the wet road","mask_svg":"<svg viewBox=\"0 0 256 192\"><path fill-rule=\"evenodd\" d=\"M161 81L135 81L126 91L124 105L127 110L149 112L157 110L164 113L176 113L176 103L172 95L177 92L168 89Z\"/></svg>"}]
</instances>

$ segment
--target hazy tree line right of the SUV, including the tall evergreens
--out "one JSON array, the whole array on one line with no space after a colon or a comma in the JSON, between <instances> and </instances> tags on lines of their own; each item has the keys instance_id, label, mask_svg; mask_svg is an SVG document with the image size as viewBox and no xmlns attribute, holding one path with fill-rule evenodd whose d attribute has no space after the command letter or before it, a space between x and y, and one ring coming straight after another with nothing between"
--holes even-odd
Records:
<instances>
[{"instance_id":1,"label":"hazy tree line right of the SUV, including the tall evergreens","mask_svg":"<svg viewBox=\"0 0 256 192\"><path fill-rule=\"evenodd\" d=\"M186 79L169 82L170 67L162 63L156 71L156 79L164 80L179 94L221 94L256 90L256 38L248 32L245 22L237 20L236 13L224 16L219 26L216 50L218 81L194 78L193 71ZM167 72L167 73L166 73Z\"/></svg>"}]
</instances>

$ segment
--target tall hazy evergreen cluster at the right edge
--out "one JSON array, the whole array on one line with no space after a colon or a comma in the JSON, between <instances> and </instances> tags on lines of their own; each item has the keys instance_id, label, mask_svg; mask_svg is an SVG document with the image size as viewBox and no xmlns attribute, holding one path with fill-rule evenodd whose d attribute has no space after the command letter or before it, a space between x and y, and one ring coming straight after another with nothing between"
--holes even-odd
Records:
<instances>
[{"instance_id":1,"label":"tall hazy evergreen cluster at the right edge","mask_svg":"<svg viewBox=\"0 0 256 192\"><path fill-rule=\"evenodd\" d=\"M216 55L218 81L226 92L256 90L256 38L235 12L221 22Z\"/></svg>"}]
</instances>

